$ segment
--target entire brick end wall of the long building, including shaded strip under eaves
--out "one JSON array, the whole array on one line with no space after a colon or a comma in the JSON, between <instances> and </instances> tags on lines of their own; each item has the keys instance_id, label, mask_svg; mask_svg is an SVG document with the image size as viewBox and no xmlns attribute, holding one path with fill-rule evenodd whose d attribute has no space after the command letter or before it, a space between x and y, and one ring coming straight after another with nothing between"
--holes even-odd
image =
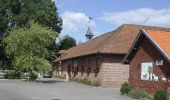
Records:
<instances>
[{"instance_id":1,"label":"entire brick end wall of the long building, including shaded strip under eaves","mask_svg":"<svg viewBox=\"0 0 170 100\"><path fill-rule=\"evenodd\" d=\"M125 55L102 55L100 69L100 80L102 87L120 87L122 83L128 82L129 65L121 64Z\"/></svg>"}]
</instances>

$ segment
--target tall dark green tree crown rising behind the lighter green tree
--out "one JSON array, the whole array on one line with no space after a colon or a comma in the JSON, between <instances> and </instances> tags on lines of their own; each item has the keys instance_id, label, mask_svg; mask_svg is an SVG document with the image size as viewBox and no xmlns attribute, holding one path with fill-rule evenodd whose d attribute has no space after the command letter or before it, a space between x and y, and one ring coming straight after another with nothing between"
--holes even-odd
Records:
<instances>
[{"instance_id":1,"label":"tall dark green tree crown rising behind the lighter green tree","mask_svg":"<svg viewBox=\"0 0 170 100\"><path fill-rule=\"evenodd\" d=\"M61 32L62 19L52 0L0 0L0 32L28 26L32 20Z\"/></svg>"}]
</instances>

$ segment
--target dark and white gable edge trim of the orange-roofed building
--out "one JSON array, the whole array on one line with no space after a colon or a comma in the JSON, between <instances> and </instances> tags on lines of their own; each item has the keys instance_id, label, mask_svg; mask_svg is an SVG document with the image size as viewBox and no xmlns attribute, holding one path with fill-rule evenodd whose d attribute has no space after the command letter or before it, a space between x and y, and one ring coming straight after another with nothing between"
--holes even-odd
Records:
<instances>
[{"instance_id":1,"label":"dark and white gable edge trim of the orange-roofed building","mask_svg":"<svg viewBox=\"0 0 170 100\"><path fill-rule=\"evenodd\" d=\"M144 35L155 47L156 49L158 49L158 51L160 51L160 53L163 55L163 57L170 62L170 58L168 57L168 55L166 54L166 52L159 46L159 44L157 44L149 35L148 33L144 30L141 29L138 36L136 37L134 43L132 44L132 46L130 47L128 53L126 54L125 58L123 59L123 64L127 64L129 63L128 58L129 56L132 54L137 42L139 42L140 37Z\"/></svg>"}]
</instances>

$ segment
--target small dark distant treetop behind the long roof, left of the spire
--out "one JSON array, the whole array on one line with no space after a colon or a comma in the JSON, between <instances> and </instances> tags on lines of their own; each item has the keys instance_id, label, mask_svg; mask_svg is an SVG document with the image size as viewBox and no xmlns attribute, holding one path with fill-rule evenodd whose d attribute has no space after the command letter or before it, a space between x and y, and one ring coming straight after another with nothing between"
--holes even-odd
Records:
<instances>
[{"instance_id":1,"label":"small dark distant treetop behind the long roof, left of the spire","mask_svg":"<svg viewBox=\"0 0 170 100\"><path fill-rule=\"evenodd\" d=\"M58 43L58 50L67 50L76 46L76 40L68 35L64 36Z\"/></svg>"}]
</instances>

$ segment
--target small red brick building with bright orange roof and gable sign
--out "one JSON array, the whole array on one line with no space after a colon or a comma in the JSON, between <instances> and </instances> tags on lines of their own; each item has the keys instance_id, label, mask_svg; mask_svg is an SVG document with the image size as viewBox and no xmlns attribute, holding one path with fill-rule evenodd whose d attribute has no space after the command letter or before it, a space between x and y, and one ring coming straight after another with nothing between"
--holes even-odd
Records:
<instances>
[{"instance_id":1,"label":"small red brick building with bright orange roof and gable sign","mask_svg":"<svg viewBox=\"0 0 170 100\"><path fill-rule=\"evenodd\" d=\"M124 59L129 83L148 92L167 90L170 79L170 31L141 30Z\"/></svg>"}]
</instances>

